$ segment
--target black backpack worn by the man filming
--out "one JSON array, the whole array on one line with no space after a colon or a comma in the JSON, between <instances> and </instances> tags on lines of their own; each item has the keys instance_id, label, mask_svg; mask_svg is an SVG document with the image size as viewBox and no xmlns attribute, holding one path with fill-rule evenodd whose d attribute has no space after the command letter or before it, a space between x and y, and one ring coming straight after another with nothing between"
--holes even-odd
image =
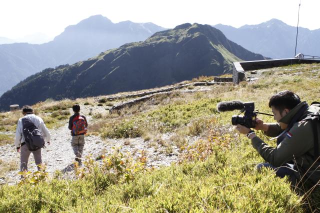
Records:
<instances>
[{"instance_id":1,"label":"black backpack worn by the man filming","mask_svg":"<svg viewBox=\"0 0 320 213\"><path fill-rule=\"evenodd\" d=\"M311 105L316 105L320 107L320 102L314 101L311 103ZM320 122L320 110L308 114L305 118L303 118L301 121L304 120L311 120L312 125L312 131L313 131L313 149L314 149L314 160L320 161L319 158L319 137L318 137L318 125Z\"/></svg>"}]
</instances>

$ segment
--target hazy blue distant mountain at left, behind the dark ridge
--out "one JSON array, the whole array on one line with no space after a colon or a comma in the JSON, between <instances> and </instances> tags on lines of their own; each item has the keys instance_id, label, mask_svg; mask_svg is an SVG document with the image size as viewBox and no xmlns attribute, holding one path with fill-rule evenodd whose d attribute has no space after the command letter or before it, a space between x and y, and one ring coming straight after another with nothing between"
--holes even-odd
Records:
<instances>
[{"instance_id":1,"label":"hazy blue distant mountain at left, behind the dark ridge","mask_svg":"<svg viewBox=\"0 0 320 213\"><path fill-rule=\"evenodd\" d=\"M134 22L112 23L102 15L93 15L67 26L52 41L43 44L1 44L0 74L5 79L0 84L0 94L44 68L85 60L123 43L144 40L155 31L165 29L150 23L142 26Z\"/></svg>"}]
</instances>

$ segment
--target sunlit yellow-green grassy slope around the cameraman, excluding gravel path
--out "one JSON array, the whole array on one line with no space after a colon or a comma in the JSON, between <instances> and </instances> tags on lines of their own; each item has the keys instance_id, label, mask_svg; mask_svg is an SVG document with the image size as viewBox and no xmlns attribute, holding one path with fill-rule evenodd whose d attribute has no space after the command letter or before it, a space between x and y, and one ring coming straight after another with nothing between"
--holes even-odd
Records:
<instances>
[{"instance_id":1,"label":"sunlit yellow-green grassy slope around the cameraman, excluding gravel path","mask_svg":"<svg viewBox=\"0 0 320 213\"><path fill-rule=\"evenodd\" d=\"M284 89L293 90L310 103L319 98L319 69L319 64L267 69L263 78L250 84L241 82L236 86L215 86L212 91L159 96L153 105L141 103L123 109L119 115L102 115L94 130L106 137L169 131L182 132L180 136L200 133L202 139L181 152L177 165L142 172L136 164L130 167L123 160L125 172L132 174L127 181L123 179L125 175L114 176L110 169L94 168L88 161L85 165L90 172L84 172L84 177L76 181L55 178L35 186L4 185L0 190L0 212L302 212L309 204L290 190L286 179L276 178L270 170L258 173L254 169L254 164L263 159L248 139L239 136L229 124L231 115L237 112L206 109L219 100L241 99L254 101L259 111L270 113L268 98ZM261 118L272 121L272 117ZM198 120L206 125L200 125ZM114 128L122 130L117 135L108 134ZM192 131L194 128L198 131ZM262 132L257 134L265 138ZM115 161L106 160L102 165L109 168Z\"/></svg>"}]
</instances>

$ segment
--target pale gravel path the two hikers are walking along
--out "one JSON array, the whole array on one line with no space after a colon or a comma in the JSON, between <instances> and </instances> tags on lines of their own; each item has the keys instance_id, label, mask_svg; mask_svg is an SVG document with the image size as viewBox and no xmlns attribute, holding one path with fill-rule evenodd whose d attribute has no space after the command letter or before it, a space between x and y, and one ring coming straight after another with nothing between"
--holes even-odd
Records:
<instances>
[{"instance_id":1,"label":"pale gravel path the two hikers are walking along","mask_svg":"<svg viewBox=\"0 0 320 213\"><path fill-rule=\"evenodd\" d=\"M181 89L181 92L192 92L199 90L210 90L209 87L199 86L196 89ZM71 110L71 109L70 109ZM92 113L105 113L106 109L99 106L81 106L81 113L88 115L90 110ZM88 123L93 123L94 119L91 116L86 116ZM46 165L46 170L49 176L52 176L56 170L62 171L66 178L72 178L72 163L74 162L74 153L70 145L71 135L67 128L67 121L65 124L56 129L50 129L51 144L42 149L42 162ZM172 133L162 134L163 141L169 141ZM199 139L198 137L187 138L189 142ZM147 155L147 166L159 167L160 165L170 165L172 162L178 160L178 148L171 146L171 151L165 151L165 147L154 141L144 141L143 138L126 138L126 139L106 139L102 140L99 136L89 135L85 136L85 146L83 150L83 157L91 154L93 158L100 154L110 154L114 148L119 148L123 153L129 152L133 157L141 155L141 150L144 150ZM5 177L0 178L0 184L8 183L15 184L19 181L19 162L20 156L16 152L13 144L6 144L0 146L0 160L4 162L15 161L16 169L7 172ZM30 154L28 161L28 169L36 171L33 155Z\"/></svg>"}]
</instances>

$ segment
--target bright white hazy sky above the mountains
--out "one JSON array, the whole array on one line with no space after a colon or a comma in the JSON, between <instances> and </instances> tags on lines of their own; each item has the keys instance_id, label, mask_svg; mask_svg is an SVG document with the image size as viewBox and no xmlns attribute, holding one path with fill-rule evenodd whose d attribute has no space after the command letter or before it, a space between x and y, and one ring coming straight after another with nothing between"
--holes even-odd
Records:
<instances>
[{"instance_id":1,"label":"bright white hazy sky above the mountains","mask_svg":"<svg viewBox=\"0 0 320 213\"><path fill-rule=\"evenodd\" d=\"M54 37L91 15L116 23L153 22L172 28L190 23L239 27L277 18L296 26L300 0L1 0L0 36L36 32ZM301 0L299 26L320 28L320 0Z\"/></svg>"}]
</instances>

